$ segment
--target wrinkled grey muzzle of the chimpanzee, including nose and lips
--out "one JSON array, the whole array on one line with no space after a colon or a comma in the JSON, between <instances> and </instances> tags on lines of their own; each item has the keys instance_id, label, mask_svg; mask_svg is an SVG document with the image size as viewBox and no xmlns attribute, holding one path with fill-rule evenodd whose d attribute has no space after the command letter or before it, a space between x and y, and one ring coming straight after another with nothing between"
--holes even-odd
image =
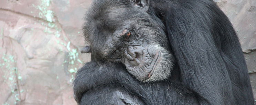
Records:
<instances>
[{"instance_id":1,"label":"wrinkled grey muzzle of the chimpanzee, including nose and lips","mask_svg":"<svg viewBox=\"0 0 256 105\"><path fill-rule=\"evenodd\" d=\"M141 47L134 47L132 50L134 51L128 50L124 53L124 64L130 74L145 82L154 75L154 71L161 61L161 52Z\"/></svg>"}]
</instances>

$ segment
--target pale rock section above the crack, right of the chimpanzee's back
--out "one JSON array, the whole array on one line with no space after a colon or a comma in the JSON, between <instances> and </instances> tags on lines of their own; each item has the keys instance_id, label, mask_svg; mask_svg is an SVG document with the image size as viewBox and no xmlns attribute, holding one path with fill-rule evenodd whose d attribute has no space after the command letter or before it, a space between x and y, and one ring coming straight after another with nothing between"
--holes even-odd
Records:
<instances>
[{"instance_id":1,"label":"pale rock section above the crack, right of the chimpanzee's back","mask_svg":"<svg viewBox=\"0 0 256 105\"><path fill-rule=\"evenodd\" d=\"M243 51L256 49L256 1L217 0L217 4L234 25Z\"/></svg>"}]
</instances>

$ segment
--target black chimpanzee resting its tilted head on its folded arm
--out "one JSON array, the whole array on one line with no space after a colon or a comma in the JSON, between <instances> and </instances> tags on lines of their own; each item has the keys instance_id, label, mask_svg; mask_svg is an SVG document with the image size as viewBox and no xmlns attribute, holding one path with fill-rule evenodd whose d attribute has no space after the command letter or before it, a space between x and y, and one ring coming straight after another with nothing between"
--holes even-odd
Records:
<instances>
[{"instance_id":1,"label":"black chimpanzee resting its tilted head on its folded arm","mask_svg":"<svg viewBox=\"0 0 256 105\"><path fill-rule=\"evenodd\" d=\"M212 0L95 0L79 104L253 105L241 45Z\"/></svg>"}]
</instances>

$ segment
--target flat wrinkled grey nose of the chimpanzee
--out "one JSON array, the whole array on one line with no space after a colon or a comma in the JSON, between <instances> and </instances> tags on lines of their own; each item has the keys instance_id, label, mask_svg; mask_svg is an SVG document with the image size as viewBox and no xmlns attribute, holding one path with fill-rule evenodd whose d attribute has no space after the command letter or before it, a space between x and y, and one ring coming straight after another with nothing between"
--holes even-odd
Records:
<instances>
[{"instance_id":1,"label":"flat wrinkled grey nose of the chimpanzee","mask_svg":"<svg viewBox=\"0 0 256 105\"><path fill-rule=\"evenodd\" d=\"M135 60L136 58L141 58L143 54L144 48L142 46L133 46L129 47L127 51L125 51L125 55L128 60Z\"/></svg>"}]
</instances>

